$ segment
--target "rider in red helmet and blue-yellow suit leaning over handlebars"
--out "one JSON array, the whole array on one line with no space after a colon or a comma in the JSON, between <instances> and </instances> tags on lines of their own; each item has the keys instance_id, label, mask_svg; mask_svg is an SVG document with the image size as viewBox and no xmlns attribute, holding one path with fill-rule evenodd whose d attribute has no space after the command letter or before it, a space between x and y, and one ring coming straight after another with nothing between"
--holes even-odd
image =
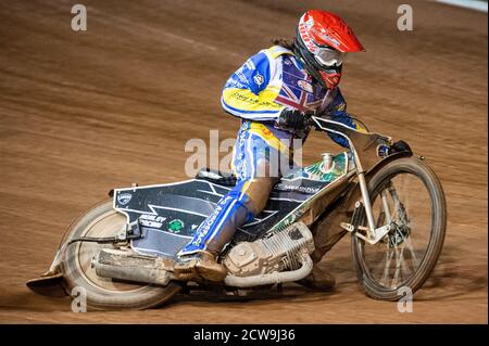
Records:
<instances>
[{"instance_id":1,"label":"rider in red helmet and blue-yellow suit leaning over handlebars","mask_svg":"<svg viewBox=\"0 0 489 346\"><path fill-rule=\"evenodd\" d=\"M347 113L338 88L344 55L360 51L365 51L363 46L338 15L310 10L301 16L291 43L278 42L260 51L227 80L222 106L241 118L233 157L238 180L178 254L177 280L224 280L226 268L216 261L217 256L236 229L265 207L273 185L284 175L271 157L287 157L294 139L305 140L311 113L362 129ZM348 148L340 136L329 136ZM324 254L316 253L315 264ZM315 265L302 283L329 289L335 280Z\"/></svg>"}]
</instances>

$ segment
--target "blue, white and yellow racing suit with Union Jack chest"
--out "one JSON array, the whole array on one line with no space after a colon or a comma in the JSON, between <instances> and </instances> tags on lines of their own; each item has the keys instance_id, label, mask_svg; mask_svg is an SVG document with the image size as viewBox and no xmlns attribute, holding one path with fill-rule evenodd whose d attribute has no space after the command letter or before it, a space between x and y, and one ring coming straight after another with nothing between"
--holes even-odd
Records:
<instances>
[{"instance_id":1,"label":"blue, white and yellow racing suit with Union Jack chest","mask_svg":"<svg viewBox=\"0 0 489 346\"><path fill-rule=\"evenodd\" d=\"M293 52L280 46L260 51L234 73L224 86L221 102L227 113L241 118L233 158L238 182L200 225L180 256L203 249L218 254L236 229L264 208L273 185L283 174L277 167L279 161L271 157L289 157L292 141L299 138L303 142L308 136L274 126L284 108L319 111L359 128L347 113L339 88L326 90L313 82ZM329 136L348 148L342 137Z\"/></svg>"}]
</instances>

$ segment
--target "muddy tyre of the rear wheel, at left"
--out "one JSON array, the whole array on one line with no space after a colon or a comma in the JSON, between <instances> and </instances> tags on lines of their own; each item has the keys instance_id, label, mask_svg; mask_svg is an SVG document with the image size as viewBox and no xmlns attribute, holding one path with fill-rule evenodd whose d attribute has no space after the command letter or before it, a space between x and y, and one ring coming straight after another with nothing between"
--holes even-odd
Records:
<instances>
[{"instance_id":1,"label":"muddy tyre of the rear wheel, at left","mask_svg":"<svg viewBox=\"0 0 489 346\"><path fill-rule=\"evenodd\" d=\"M96 204L85 214L79 216L67 229L63 235L63 241L75 236L82 236L86 227L96 218L114 212L112 200L104 200ZM92 234L93 235L93 234ZM177 282L171 282L166 286L145 285L140 291L126 293L109 293L92 285L80 274L76 266L77 249L79 247L72 244L66 249L65 256L61 264L63 272L63 287L68 295L75 286L83 286L87 291L87 307L89 310L120 310L120 309L147 309L164 305L175 294L181 290L181 285ZM114 292L114 291L112 291ZM72 296L73 297L73 296ZM74 297L73 297L74 298Z\"/></svg>"}]
</instances>

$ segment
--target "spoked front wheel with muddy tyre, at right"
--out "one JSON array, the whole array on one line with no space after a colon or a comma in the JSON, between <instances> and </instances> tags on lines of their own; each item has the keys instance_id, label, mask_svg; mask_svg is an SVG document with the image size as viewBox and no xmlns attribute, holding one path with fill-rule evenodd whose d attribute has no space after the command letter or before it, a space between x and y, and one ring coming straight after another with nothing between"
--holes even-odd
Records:
<instances>
[{"instance_id":1,"label":"spoked front wheel with muddy tyre, at right","mask_svg":"<svg viewBox=\"0 0 489 346\"><path fill-rule=\"evenodd\" d=\"M425 163L408 157L376 172L368 192L376 227L390 225L391 231L375 245L352 234L359 279L366 295L399 300L425 283L440 256L447 228L443 189Z\"/></svg>"}]
</instances>

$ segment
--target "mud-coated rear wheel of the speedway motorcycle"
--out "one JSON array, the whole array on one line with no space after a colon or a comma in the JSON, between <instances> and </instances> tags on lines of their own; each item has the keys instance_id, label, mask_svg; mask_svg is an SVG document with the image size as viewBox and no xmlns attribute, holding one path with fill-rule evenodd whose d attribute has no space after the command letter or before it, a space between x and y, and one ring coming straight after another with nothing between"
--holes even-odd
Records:
<instances>
[{"instance_id":1,"label":"mud-coated rear wheel of the speedway motorcycle","mask_svg":"<svg viewBox=\"0 0 489 346\"><path fill-rule=\"evenodd\" d=\"M80 216L68 229L65 240L79 236L114 236L126 223L126 217L112 207L112 200L104 201ZM98 277L91 266L92 257L112 244L77 242L66 248L61 265L64 285L68 294L86 292L87 306L92 309L145 309L165 303L181 286L171 282L166 286L122 282ZM77 287L78 290L74 290Z\"/></svg>"}]
</instances>

